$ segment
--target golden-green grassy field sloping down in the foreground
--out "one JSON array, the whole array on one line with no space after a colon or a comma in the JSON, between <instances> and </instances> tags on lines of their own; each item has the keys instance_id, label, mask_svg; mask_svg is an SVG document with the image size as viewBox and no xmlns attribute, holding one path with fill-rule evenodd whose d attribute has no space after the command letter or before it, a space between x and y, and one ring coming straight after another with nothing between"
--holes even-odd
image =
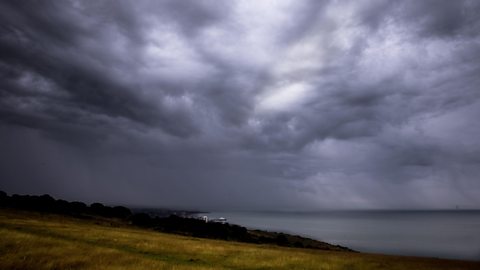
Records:
<instances>
[{"instance_id":1,"label":"golden-green grassy field sloping down in the foreground","mask_svg":"<svg viewBox=\"0 0 480 270\"><path fill-rule=\"evenodd\" d=\"M480 269L479 262L282 248L0 209L0 269Z\"/></svg>"}]
</instances>

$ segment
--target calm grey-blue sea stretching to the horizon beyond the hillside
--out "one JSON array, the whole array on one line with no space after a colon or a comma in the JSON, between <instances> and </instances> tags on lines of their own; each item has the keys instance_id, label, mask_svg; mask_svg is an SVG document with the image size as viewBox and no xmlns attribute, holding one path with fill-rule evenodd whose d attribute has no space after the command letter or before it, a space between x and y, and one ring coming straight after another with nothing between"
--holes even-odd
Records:
<instances>
[{"instance_id":1,"label":"calm grey-blue sea stretching to the horizon beyond the hillside","mask_svg":"<svg viewBox=\"0 0 480 270\"><path fill-rule=\"evenodd\" d=\"M213 212L247 228L372 253L480 260L480 211Z\"/></svg>"}]
</instances>

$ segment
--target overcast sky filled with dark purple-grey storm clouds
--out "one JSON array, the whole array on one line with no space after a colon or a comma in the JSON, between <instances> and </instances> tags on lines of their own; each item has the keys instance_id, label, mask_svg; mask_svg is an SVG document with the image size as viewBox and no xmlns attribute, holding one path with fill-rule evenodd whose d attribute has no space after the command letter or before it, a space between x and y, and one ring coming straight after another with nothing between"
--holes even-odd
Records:
<instances>
[{"instance_id":1,"label":"overcast sky filled with dark purple-grey storm clouds","mask_svg":"<svg viewBox=\"0 0 480 270\"><path fill-rule=\"evenodd\" d=\"M1 1L0 189L480 208L480 1Z\"/></svg>"}]
</instances>

